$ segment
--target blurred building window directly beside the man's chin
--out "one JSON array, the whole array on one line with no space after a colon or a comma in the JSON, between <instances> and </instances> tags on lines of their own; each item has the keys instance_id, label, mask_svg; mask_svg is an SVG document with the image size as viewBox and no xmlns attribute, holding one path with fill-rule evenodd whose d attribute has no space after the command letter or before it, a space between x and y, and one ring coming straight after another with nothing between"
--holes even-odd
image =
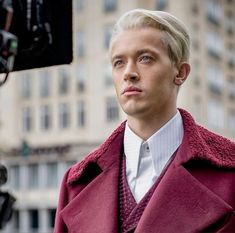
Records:
<instances>
[{"instance_id":1,"label":"blurred building window directly beside the man's chin","mask_svg":"<svg viewBox=\"0 0 235 233\"><path fill-rule=\"evenodd\" d=\"M106 99L106 120L108 122L119 119L119 106L115 97Z\"/></svg>"}]
</instances>

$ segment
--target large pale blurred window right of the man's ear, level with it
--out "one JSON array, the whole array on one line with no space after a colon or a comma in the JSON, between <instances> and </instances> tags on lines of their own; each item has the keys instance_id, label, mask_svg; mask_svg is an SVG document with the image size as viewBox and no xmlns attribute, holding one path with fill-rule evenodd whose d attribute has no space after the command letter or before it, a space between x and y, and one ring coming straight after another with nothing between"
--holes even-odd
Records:
<instances>
[{"instance_id":1,"label":"large pale blurred window right of the man's ear, level with it","mask_svg":"<svg viewBox=\"0 0 235 233\"><path fill-rule=\"evenodd\" d=\"M224 74L222 69L210 65L207 68L207 82L209 89L215 94L221 94L224 84Z\"/></svg>"}]
</instances>

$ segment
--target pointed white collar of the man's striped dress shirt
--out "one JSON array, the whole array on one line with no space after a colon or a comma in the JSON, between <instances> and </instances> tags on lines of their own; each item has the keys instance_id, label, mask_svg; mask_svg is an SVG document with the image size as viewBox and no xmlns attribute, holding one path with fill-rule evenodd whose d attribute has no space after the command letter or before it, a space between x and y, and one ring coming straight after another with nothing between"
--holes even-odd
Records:
<instances>
[{"instance_id":1,"label":"pointed white collar of the man's striped dress shirt","mask_svg":"<svg viewBox=\"0 0 235 233\"><path fill-rule=\"evenodd\" d=\"M182 117L177 110L176 115L147 140L156 175L161 173L169 158L181 144L183 133ZM124 132L124 153L127 167L135 176L138 172L140 148L143 142L143 139L130 129L127 122Z\"/></svg>"}]
</instances>

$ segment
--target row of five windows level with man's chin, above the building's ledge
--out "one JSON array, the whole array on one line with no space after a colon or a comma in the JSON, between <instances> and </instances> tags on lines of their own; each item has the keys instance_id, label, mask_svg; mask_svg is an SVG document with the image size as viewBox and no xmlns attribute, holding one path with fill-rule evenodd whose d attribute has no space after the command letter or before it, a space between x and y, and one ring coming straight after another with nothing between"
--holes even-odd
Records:
<instances>
[{"instance_id":1,"label":"row of five windows level with man's chin, above the building's ledge","mask_svg":"<svg viewBox=\"0 0 235 233\"><path fill-rule=\"evenodd\" d=\"M106 122L119 120L119 105L115 97L109 97L105 102L106 108ZM60 103L58 106L58 128L67 129L71 126L71 112L68 103ZM76 106L76 125L78 128L83 128L87 123L87 109L86 103L83 100L77 102ZM21 126L23 132L31 132L34 128L34 120L36 118L34 108L26 106L22 108L21 112ZM52 112L52 107L49 104L40 107L40 129L47 131L56 127L53 125L55 114Z\"/></svg>"}]
</instances>

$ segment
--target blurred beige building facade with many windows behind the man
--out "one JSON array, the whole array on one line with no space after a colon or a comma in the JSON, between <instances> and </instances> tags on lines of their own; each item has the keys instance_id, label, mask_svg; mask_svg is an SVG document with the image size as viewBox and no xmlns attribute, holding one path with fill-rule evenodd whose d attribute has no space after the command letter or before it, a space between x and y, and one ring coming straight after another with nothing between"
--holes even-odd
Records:
<instances>
[{"instance_id":1,"label":"blurred beige building facade with many windows behind the man","mask_svg":"<svg viewBox=\"0 0 235 233\"><path fill-rule=\"evenodd\" d=\"M192 37L192 71L178 106L197 122L235 139L234 0L74 0L71 65L11 74L0 90L4 187L16 196L3 232L52 232L66 169L125 119L112 87L108 44L112 26L134 8L168 11Z\"/></svg>"}]
</instances>

